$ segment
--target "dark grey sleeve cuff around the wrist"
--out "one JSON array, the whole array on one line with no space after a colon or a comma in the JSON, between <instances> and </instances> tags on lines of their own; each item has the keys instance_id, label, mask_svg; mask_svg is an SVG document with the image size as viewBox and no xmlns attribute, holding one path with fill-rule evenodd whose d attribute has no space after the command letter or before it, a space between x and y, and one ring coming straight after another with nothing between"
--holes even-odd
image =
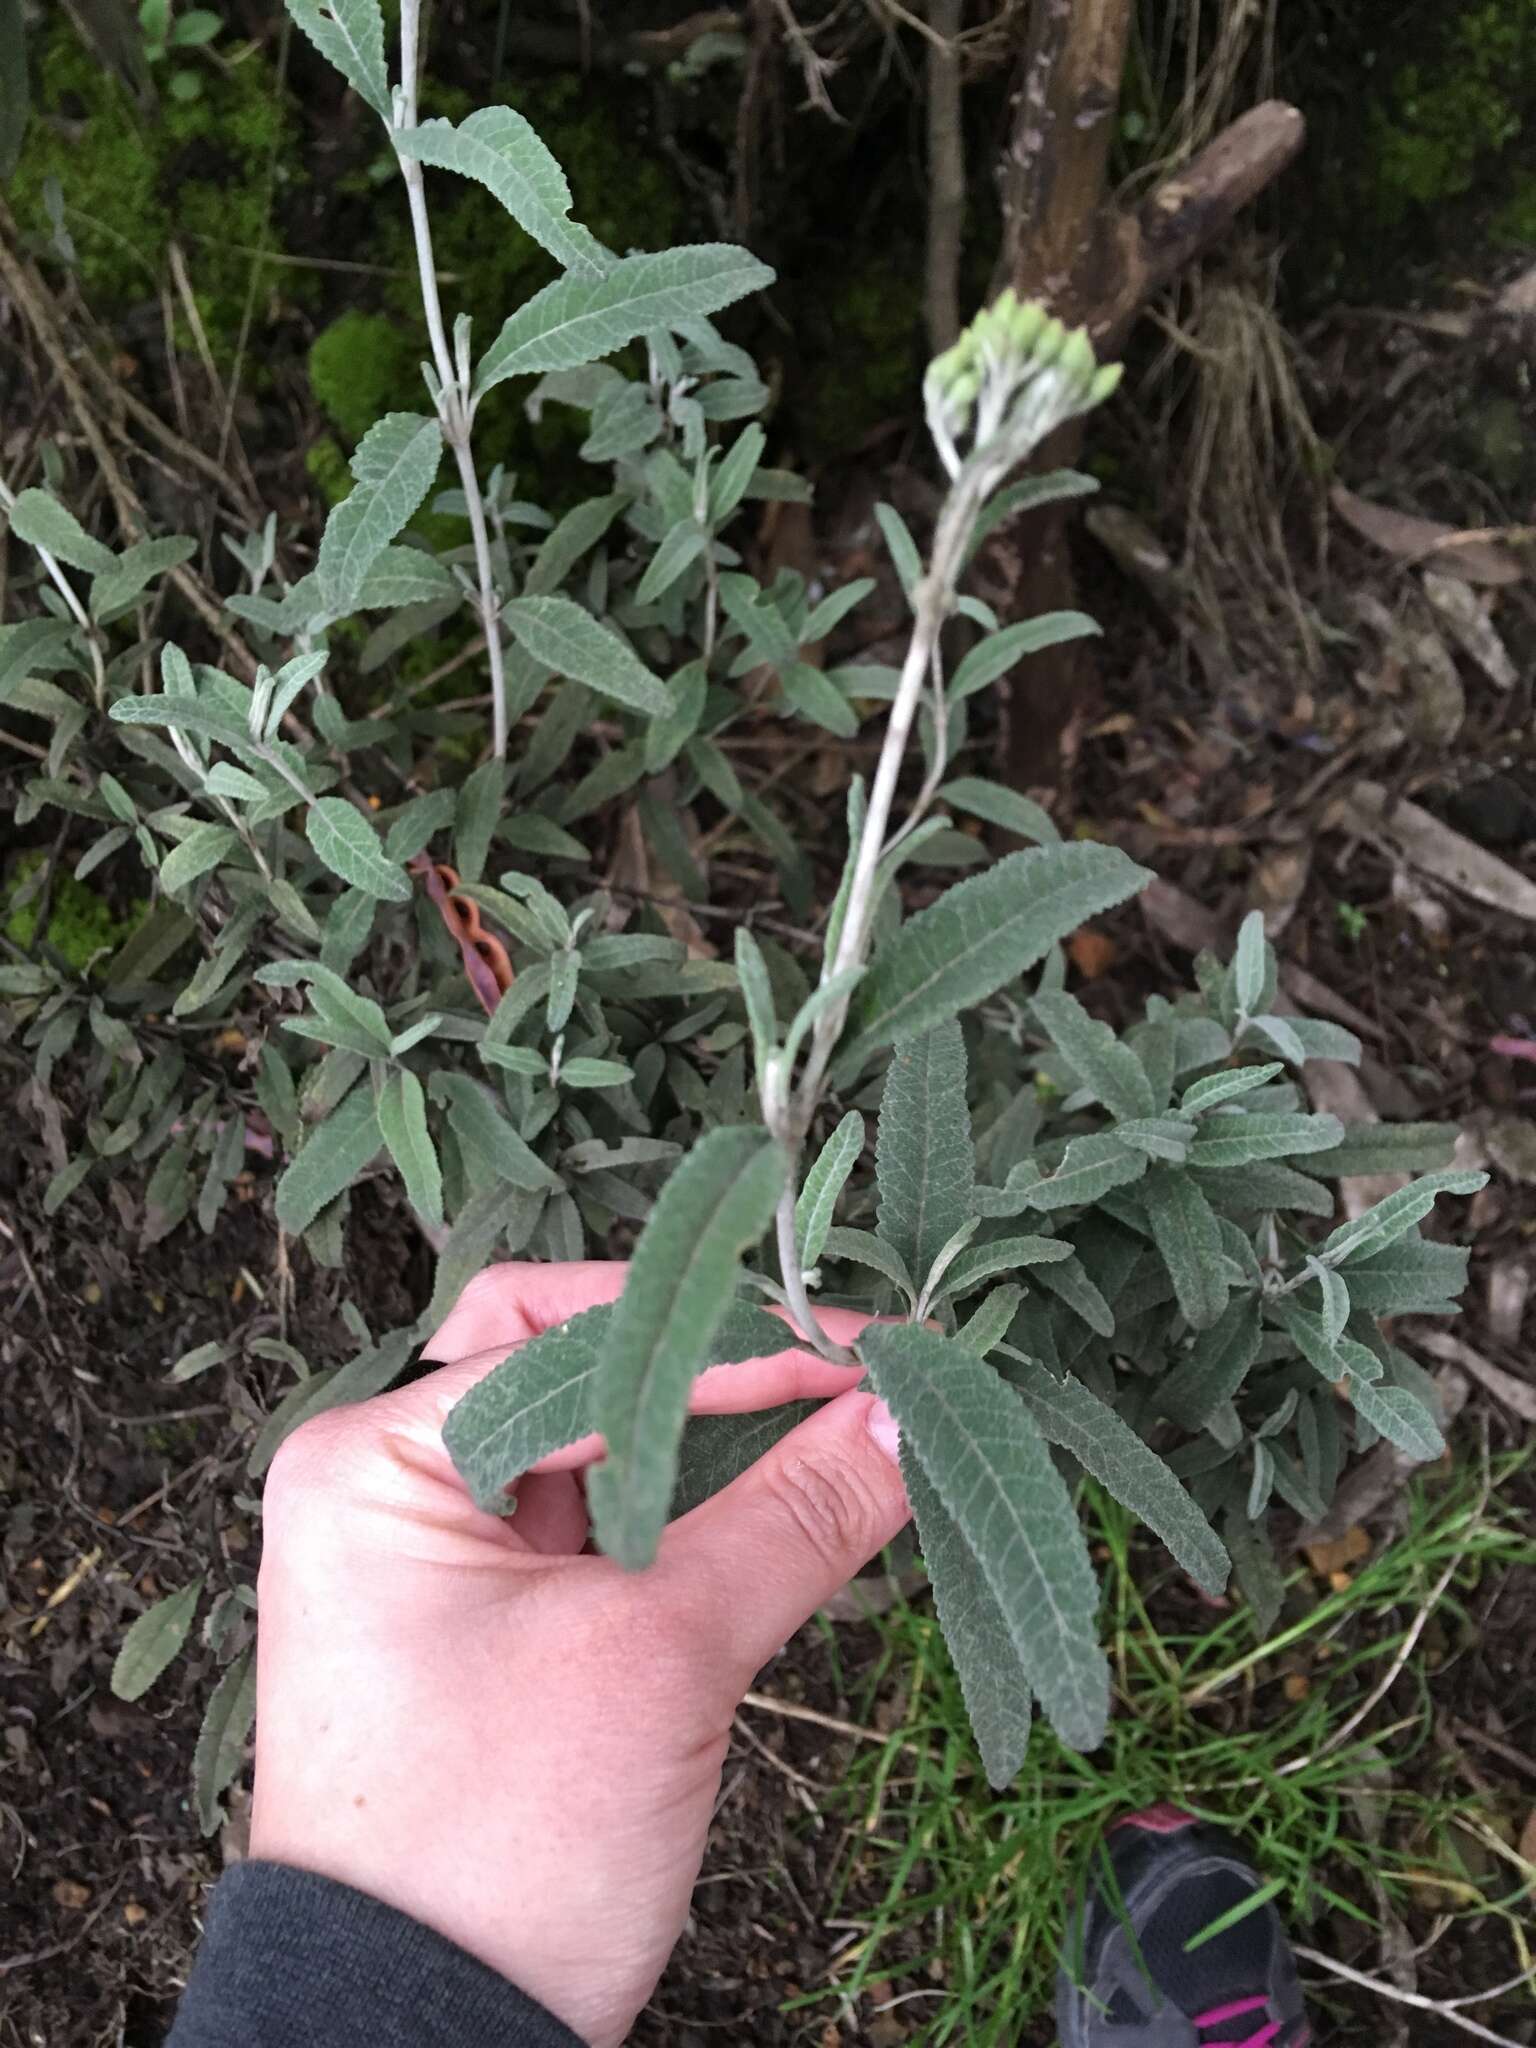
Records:
<instances>
[{"instance_id":1,"label":"dark grey sleeve cuff around the wrist","mask_svg":"<svg viewBox=\"0 0 1536 2048\"><path fill-rule=\"evenodd\" d=\"M285 1864L219 1880L166 2048L584 2048L440 1933Z\"/></svg>"}]
</instances>

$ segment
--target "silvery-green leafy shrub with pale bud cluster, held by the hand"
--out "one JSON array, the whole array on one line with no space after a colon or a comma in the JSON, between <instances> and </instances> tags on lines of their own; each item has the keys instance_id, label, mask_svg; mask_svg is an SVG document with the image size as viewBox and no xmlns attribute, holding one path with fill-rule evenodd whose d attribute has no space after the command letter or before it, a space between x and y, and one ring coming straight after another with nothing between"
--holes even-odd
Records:
<instances>
[{"instance_id":1,"label":"silvery-green leafy shrub with pale bud cluster, held by the hand","mask_svg":"<svg viewBox=\"0 0 1536 2048\"><path fill-rule=\"evenodd\" d=\"M1153 997L1116 1036L1067 993L1061 942L1149 874L1114 846L1063 844L1016 793L950 774L977 692L1092 631L1077 612L999 627L961 586L1004 518L1090 487L1008 477L1116 371L1012 295L977 317L924 381L948 483L928 559L879 512L911 610L905 659L823 672L807 651L870 586L821 596L780 571L764 588L731 539L745 504L801 494L762 467L762 381L713 326L770 272L727 246L610 254L512 109L420 123L416 0L393 88L375 0L289 10L399 158L430 410L362 436L305 575L276 573L272 522L231 543L246 588L227 610L246 637L229 629L229 668L164 645L160 688L145 596L190 541L113 551L49 489L4 492L39 582L35 616L0 639L0 700L51 725L20 817L72 813L88 840L76 879L137 866L156 899L104 971L72 969L45 938L0 967L45 1085L90 1047L84 1143L47 1206L137 1165L145 1239L193 1212L211 1231L254 1147L283 1161L279 1227L334 1264L352 1190L387 1161L440 1247L434 1300L377 1341L354 1317L362 1348L297 1380L258 1436L258 1473L299 1419L389 1384L498 1251L578 1257L639 1227L612 1309L535 1339L455 1409L446 1442L475 1495L506 1509L510 1481L596 1427L598 1542L647 1565L670 1513L799 1419L686 1421L698 1370L782 1348L774 1303L803 1341L856 1356L901 1421L993 1780L1020 1761L1032 1696L1092 1747L1108 1667L1073 1473L1210 1591L1231 1554L1249 1597L1272 1604L1272 1499L1321 1513L1348 1452L1378 1436L1419 1458L1440 1448L1434 1393L1378 1319L1454 1307L1466 1255L1423 1243L1417 1223L1436 1194L1481 1182L1434 1171L1329 1231L1317 1176L1440 1163L1446 1133L1352 1135L1300 1108L1286 1069L1360 1049L1276 1012L1257 918L1231 965L1200 961L1196 993ZM479 360L438 303L426 168L485 184L563 270ZM606 360L631 342L645 375ZM610 467L559 522L514 479L477 473L475 410L512 377L539 379L530 408L586 414L584 453ZM459 539L424 545L424 510ZM981 637L950 664L956 618ZM479 723L367 692L403 649L465 621L483 635L492 729L453 782ZM764 717L850 739L879 702L879 766L848 784L811 973L758 940L750 911L727 963L676 936L666 901L594 877L596 821L621 813L657 874L707 895L678 819L709 803L813 922L807 850L723 741ZM952 813L1034 844L983 854L903 920L907 864L981 852ZM248 1083L199 1053L227 1030L252 1047ZM967 1051L987 1071L975 1135ZM858 1167L874 1110L870 1182ZM885 1321L848 1354L821 1331L827 1300ZM197 1595L172 1599L135 1624L125 1688L147 1686L190 1626ZM244 1628L225 1604L225 1653ZM250 1694L233 1655L203 1745L209 1821Z\"/></svg>"}]
</instances>

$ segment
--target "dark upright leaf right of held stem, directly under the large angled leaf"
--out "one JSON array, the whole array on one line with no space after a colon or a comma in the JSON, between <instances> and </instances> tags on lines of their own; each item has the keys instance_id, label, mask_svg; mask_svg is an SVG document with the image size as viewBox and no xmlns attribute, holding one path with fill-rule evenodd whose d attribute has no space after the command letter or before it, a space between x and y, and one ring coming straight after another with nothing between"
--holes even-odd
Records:
<instances>
[{"instance_id":1,"label":"dark upright leaf right of held stem, directly under the large angled leaf","mask_svg":"<svg viewBox=\"0 0 1536 2048\"><path fill-rule=\"evenodd\" d=\"M926 1276L948 1239L975 1217L958 1024L940 1024L897 1047L881 1092L874 1180L881 1237L913 1278Z\"/></svg>"}]
</instances>

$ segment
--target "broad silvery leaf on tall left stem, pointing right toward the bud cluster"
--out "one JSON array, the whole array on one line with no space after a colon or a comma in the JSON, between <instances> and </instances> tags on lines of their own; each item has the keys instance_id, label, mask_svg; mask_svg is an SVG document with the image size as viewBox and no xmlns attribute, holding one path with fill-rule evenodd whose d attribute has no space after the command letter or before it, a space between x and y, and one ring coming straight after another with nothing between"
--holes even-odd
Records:
<instances>
[{"instance_id":1,"label":"broad silvery leaf on tall left stem, pointing right toward the bud cluster","mask_svg":"<svg viewBox=\"0 0 1536 2048\"><path fill-rule=\"evenodd\" d=\"M475 373L475 397L506 377L569 371L657 328L717 313L772 285L774 272L723 242L625 256L606 276L563 276L506 322Z\"/></svg>"}]
</instances>

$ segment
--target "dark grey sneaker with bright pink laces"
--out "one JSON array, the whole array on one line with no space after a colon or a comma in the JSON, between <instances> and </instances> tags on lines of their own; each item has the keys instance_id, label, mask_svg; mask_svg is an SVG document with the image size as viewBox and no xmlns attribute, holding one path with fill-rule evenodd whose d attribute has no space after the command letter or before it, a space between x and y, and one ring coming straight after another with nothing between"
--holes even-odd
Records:
<instances>
[{"instance_id":1,"label":"dark grey sneaker with bright pink laces","mask_svg":"<svg viewBox=\"0 0 1536 2048\"><path fill-rule=\"evenodd\" d=\"M1305 2048L1296 1960L1266 1901L1196 1942L1260 1878L1237 1845L1178 1806L1110 1829L1114 1886L1069 1927L1057 1978L1061 2048ZM1194 1946L1190 1946L1194 1944ZM1073 1974L1075 1972L1075 1974Z\"/></svg>"}]
</instances>

